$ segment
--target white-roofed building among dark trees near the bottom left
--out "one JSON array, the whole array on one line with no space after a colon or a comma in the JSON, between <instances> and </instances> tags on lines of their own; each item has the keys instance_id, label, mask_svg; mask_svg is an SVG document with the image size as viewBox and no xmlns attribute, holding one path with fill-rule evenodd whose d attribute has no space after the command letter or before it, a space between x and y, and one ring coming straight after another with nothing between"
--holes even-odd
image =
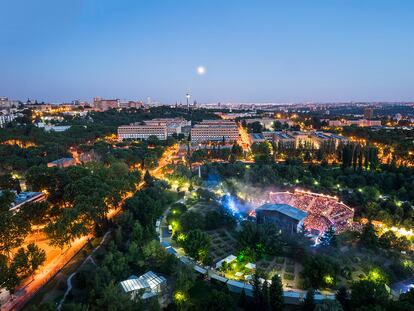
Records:
<instances>
[{"instance_id":1,"label":"white-roofed building among dark trees near the bottom left","mask_svg":"<svg viewBox=\"0 0 414 311\"><path fill-rule=\"evenodd\" d=\"M166 285L167 279L152 271L148 271L140 277L132 275L127 280L120 282L122 290L131 295L131 299L134 299L136 295L140 295L142 299L154 297L162 293Z\"/></svg>"}]
</instances>

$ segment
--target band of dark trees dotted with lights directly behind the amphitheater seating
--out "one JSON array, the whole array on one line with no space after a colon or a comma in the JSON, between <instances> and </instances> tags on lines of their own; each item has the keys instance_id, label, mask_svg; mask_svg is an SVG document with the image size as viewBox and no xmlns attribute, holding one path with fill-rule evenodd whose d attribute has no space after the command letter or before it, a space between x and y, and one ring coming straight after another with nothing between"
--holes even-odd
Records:
<instances>
[{"instance_id":1,"label":"band of dark trees dotted with lights directly behind the amphitheater seating","mask_svg":"<svg viewBox=\"0 0 414 311\"><path fill-rule=\"evenodd\" d=\"M236 178L249 185L282 189L303 186L317 192L337 195L352 207L356 216L367 217L409 228L414 225L414 170L382 166L381 170L354 171L352 168L324 167L289 161L286 164L210 163L202 175ZM397 199L398 198L398 199Z\"/></svg>"}]
</instances>

